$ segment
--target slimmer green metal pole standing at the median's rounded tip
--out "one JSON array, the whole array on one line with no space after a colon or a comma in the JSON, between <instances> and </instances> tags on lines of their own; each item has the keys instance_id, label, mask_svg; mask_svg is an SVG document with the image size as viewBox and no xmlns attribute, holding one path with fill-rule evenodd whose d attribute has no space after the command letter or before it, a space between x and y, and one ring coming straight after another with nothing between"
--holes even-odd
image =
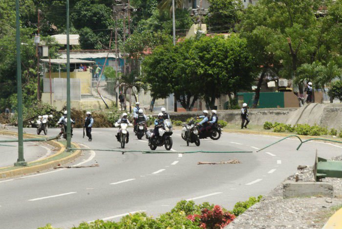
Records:
<instances>
[{"instance_id":1,"label":"slimmer green metal pole standing at the median's rounded tip","mask_svg":"<svg viewBox=\"0 0 342 229\"><path fill-rule=\"evenodd\" d=\"M76 71L76 69L75 69ZM71 148L69 0L66 0L66 148Z\"/></svg>"}]
</instances>

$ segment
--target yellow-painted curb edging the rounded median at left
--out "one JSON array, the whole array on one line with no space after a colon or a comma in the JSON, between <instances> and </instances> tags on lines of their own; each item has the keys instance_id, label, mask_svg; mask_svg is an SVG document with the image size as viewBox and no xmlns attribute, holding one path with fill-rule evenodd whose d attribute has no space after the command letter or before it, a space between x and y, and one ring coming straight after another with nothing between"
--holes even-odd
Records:
<instances>
[{"instance_id":1,"label":"yellow-painted curb edging the rounded median at left","mask_svg":"<svg viewBox=\"0 0 342 229\"><path fill-rule=\"evenodd\" d=\"M7 135L17 135L17 133L15 132L7 132L7 131L0 131L0 134L7 134ZM32 135L32 134L24 134L24 136L34 136L34 137L37 137L35 135ZM39 164L39 165L34 165L34 166L30 166L30 164L33 164L33 163L37 163L39 161L42 161L42 160L45 160L45 159L48 159L48 158L52 158L54 156L57 156L61 153L63 153L65 151L65 146L57 141L46 141L47 144L50 144L54 147L58 147L59 148L59 151L51 156L48 156L48 157L45 157L43 159L38 159L38 160L35 160L35 161L32 161L32 162L29 162L28 163L28 166L27 167L21 167L21 168L18 168L18 169L13 169L13 170L9 170L9 171L3 171L3 172L0 172L0 178L8 178L8 177L11 177L11 176L18 176L18 175L23 175L23 174L26 174L26 173L33 173L33 172L38 172L38 171L42 171L42 170L47 170L47 169L51 169L55 166L58 166L58 164L66 164L66 163L69 163L70 161L73 161L74 159L76 159L80 154L81 154L81 150L76 150L75 152L73 152L72 154L64 157L64 158L60 158L60 159L57 159L57 160L53 160L53 161L49 161L49 162L46 162L46 163L43 163L43 164ZM73 143L75 145L75 148L80 148L78 144L76 143ZM12 167L12 166L11 166ZM4 169L4 168L11 168L11 167L2 167L0 169ZM14 166L13 166L14 168Z\"/></svg>"}]
</instances>

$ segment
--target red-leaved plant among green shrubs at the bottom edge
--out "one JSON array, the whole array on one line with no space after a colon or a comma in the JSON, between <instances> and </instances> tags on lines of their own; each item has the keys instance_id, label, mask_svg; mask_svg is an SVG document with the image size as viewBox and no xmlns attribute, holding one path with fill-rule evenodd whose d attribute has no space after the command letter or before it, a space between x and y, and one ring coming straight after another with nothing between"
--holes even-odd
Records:
<instances>
[{"instance_id":1,"label":"red-leaved plant among green shrubs at the bottom edge","mask_svg":"<svg viewBox=\"0 0 342 229\"><path fill-rule=\"evenodd\" d=\"M235 219L235 215L223 212L221 206L215 205L213 210L203 209L201 215L188 215L187 218L198 222L203 229L222 229Z\"/></svg>"}]
</instances>

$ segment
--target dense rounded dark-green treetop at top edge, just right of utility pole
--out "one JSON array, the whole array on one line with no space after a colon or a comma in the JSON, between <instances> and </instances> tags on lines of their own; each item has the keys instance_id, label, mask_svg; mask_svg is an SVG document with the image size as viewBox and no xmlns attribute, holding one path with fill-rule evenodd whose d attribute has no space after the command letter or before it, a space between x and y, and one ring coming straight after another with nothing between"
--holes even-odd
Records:
<instances>
[{"instance_id":1,"label":"dense rounded dark-green treetop at top edge, just right of utility pole","mask_svg":"<svg viewBox=\"0 0 342 229\"><path fill-rule=\"evenodd\" d=\"M241 1L209 0L209 3L210 15L205 19L209 25L209 31L223 33L235 27L235 23L238 21L238 13L243 9Z\"/></svg>"}]
</instances>

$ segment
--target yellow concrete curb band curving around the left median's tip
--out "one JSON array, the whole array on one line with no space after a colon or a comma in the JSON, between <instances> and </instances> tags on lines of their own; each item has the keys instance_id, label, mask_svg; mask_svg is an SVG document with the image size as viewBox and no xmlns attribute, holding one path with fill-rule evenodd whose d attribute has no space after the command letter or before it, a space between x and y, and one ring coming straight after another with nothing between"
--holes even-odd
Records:
<instances>
[{"instance_id":1,"label":"yellow concrete curb band curving around the left median's tip","mask_svg":"<svg viewBox=\"0 0 342 229\"><path fill-rule=\"evenodd\" d=\"M0 131L0 134L12 135L12 136L17 135L17 133L15 132L8 132L8 131ZM37 137L37 136L24 134L24 137ZM7 178L7 177L18 176L18 175L23 175L27 173L34 173L37 171L51 169L57 166L58 164L66 164L66 163L73 161L82 152L81 150L79 150L80 147L75 143L73 143L73 145L75 146L75 150L70 153L66 152L65 146L58 141L51 140L51 141L46 141L46 143L56 147L58 149L58 152L54 153L51 156L29 162L27 163L27 167L11 166L11 167L0 168L0 178Z\"/></svg>"}]
</instances>

